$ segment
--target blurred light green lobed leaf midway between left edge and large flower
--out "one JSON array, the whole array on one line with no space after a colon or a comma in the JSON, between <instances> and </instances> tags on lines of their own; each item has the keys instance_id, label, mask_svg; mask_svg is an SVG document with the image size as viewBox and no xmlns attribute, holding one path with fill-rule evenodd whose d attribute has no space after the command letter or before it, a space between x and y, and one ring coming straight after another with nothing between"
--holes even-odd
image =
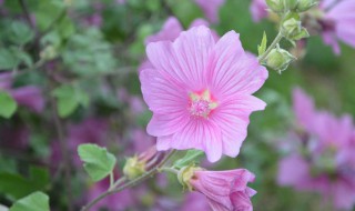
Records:
<instances>
[{"instance_id":1,"label":"blurred light green lobed leaf midway between left edge and large flower","mask_svg":"<svg viewBox=\"0 0 355 211\"><path fill-rule=\"evenodd\" d=\"M87 107L90 100L84 91L72 84L62 84L53 90L53 96L58 100L58 113L62 118L72 114L80 104Z\"/></svg>"}]
</instances>

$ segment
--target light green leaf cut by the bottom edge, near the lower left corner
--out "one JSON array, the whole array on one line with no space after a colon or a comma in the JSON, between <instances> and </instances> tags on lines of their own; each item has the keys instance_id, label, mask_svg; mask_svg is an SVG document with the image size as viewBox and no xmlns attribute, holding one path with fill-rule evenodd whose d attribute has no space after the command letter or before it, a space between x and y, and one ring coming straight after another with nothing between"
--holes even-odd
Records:
<instances>
[{"instance_id":1,"label":"light green leaf cut by the bottom edge, near the lower left corner","mask_svg":"<svg viewBox=\"0 0 355 211\"><path fill-rule=\"evenodd\" d=\"M9 211L50 211L49 197L37 191L17 201Z\"/></svg>"}]
</instances>

